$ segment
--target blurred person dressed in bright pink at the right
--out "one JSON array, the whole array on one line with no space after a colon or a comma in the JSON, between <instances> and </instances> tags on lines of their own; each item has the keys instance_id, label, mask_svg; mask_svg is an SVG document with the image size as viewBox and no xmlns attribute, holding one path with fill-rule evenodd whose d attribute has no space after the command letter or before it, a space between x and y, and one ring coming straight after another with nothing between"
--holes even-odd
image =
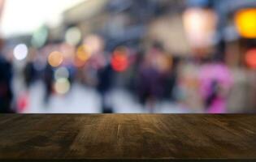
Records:
<instances>
[{"instance_id":1,"label":"blurred person dressed in bright pink at the right","mask_svg":"<svg viewBox=\"0 0 256 162\"><path fill-rule=\"evenodd\" d=\"M207 63L202 66L199 78L206 113L227 113L228 92L233 84L228 67L221 62Z\"/></svg>"}]
</instances>

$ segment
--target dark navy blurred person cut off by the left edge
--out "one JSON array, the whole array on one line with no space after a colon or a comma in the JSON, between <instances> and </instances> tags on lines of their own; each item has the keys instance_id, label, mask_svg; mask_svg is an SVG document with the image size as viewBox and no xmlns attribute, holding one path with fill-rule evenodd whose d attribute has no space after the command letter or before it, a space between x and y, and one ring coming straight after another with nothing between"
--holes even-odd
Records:
<instances>
[{"instance_id":1,"label":"dark navy blurred person cut off by the left edge","mask_svg":"<svg viewBox=\"0 0 256 162\"><path fill-rule=\"evenodd\" d=\"M13 93L11 91L12 66L3 56L4 41L0 40L0 113L14 113L11 109Z\"/></svg>"}]
</instances>

